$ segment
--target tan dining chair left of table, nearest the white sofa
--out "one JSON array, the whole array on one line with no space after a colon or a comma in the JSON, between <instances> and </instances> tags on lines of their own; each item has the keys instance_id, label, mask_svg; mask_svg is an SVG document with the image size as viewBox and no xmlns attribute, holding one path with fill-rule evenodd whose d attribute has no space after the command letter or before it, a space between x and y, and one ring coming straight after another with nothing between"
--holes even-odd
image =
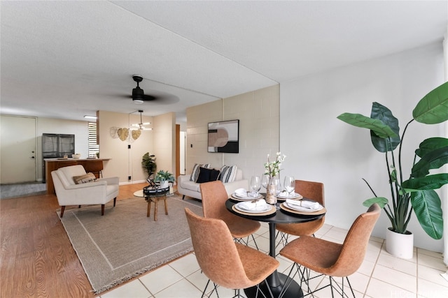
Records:
<instances>
[{"instance_id":1,"label":"tan dining chair left of table, nearest the white sofa","mask_svg":"<svg viewBox=\"0 0 448 298\"><path fill-rule=\"evenodd\" d=\"M225 207L225 201L228 200L227 191L223 182L211 181L200 185L202 196L202 210L204 217L222 219L230 230L235 241L248 245L248 237L251 236L255 247L258 249L253 233L260 228L258 221L242 218L232 214ZM244 241L246 238L246 241Z\"/></svg>"}]
</instances>

